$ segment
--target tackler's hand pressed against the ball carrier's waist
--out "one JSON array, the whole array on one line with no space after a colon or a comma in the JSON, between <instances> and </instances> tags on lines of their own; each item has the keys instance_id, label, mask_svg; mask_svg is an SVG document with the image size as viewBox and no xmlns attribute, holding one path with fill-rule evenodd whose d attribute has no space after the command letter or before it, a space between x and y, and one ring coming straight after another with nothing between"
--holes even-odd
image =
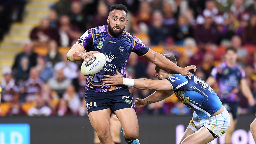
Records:
<instances>
[{"instance_id":1,"label":"tackler's hand pressed against the ball carrier's waist","mask_svg":"<svg viewBox=\"0 0 256 144\"><path fill-rule=\"evenodd\" d=\"M106 86L114 86L114 85L121 85L123 84L123 77L120 75L120 73L116 70L116 75L104 75L104 78L102 79L103 83L105 83Z\"/></svg>"}]
</instances>

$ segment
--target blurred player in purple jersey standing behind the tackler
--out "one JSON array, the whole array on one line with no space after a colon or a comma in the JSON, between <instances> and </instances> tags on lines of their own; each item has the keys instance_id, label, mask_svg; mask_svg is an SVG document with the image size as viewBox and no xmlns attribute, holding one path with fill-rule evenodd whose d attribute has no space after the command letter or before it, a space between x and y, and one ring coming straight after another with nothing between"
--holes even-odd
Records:
<instances>
[{"instance_id":1,"label":"blurred player in purple jersey standing behind the tackler","mask_svg":"<svg viewBox=\"0 0 256 144\"><path fill-rule=\"evenodd\" d=\"M225 136L225 144L231 144L231 136L237 123L237 108L239 106L239 84L250 106L255 101L246 82L244 70L236 64L237 50L228 47L225 52L225 62L212 69L211 76L207 79L209 85L218 83L219 98L230 114L230 127Z\"/></svg>"}]
</instances>

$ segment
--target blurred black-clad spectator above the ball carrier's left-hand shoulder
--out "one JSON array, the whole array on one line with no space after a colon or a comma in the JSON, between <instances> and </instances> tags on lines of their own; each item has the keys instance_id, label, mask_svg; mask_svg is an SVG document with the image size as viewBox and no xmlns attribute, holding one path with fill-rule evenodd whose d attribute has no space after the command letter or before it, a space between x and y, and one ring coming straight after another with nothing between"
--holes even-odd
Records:
<instances>
[{"instance_id":1,"label":"blurred black-clad spectator above the ball carrier's left-hand shoulder","mask_svg":"<svg viewBox=\"0 0 256 144\"><path fill-rule=\"evenodd\" d=\"M69 13L69 18L70 18L70 22L72 23L72 25L77 26L80 31L86 31L87 30L85 27L86 18L84 17L82 10L83 9L82 9L81 2L79 2L79 1L72 2L71 12ZM107 9L105 9L104 11L106 11L106 13L108 13Z\"/></svg>"}]
</instances>

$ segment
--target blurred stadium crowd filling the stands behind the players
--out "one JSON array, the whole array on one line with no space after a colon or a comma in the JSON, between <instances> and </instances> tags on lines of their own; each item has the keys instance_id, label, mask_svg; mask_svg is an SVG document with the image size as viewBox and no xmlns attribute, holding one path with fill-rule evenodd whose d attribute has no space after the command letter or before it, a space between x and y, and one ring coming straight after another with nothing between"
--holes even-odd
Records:
<instances>
[{"instance_id":1,"label":"blurred stadium crowd filling the stands behind the players","mask_svg":"<svg viewBox=\"0 0 256 144\"><path fill-rule=\"evenodd\" d=\"M109 7L128 7L126 31L159 53L172 53L178 65L195 64L196 75L206 80L223 61L227 47L238 51L238 64L256 96L256 1L254 0L60 0L49 15L31 30L29 41L11 68L2 70L2 116L87 115L86 77L82 62L66 59L66 50L89 28L107 25ZM46 52L40 49L47 49ZM61 50L60 50L61 49ZM135 53L126 65L132 78L156 79L155 65ZM218 86L213 87L218 92ZM153 91L130 88L135 98ZM240 114L255 112L241 94ZM138 114L188 115L192 111L172 95Z\"/></svg>"}]
</instances>

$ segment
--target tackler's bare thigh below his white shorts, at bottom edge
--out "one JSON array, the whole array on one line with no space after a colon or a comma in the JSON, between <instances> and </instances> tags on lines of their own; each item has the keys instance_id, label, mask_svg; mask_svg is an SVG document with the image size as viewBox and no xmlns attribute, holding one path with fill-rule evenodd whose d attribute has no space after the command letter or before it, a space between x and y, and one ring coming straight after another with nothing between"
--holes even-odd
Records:
<instances>
[{"instance_id":1,"label":"tackler's bare thigh below his white shorts, at bottom edge","mask_svg":"<svg viewBox=\"0 0 256 144\"><path fill-rule=\"evenodd\" d=\"M201 127L195 133L186 137L181 144L207 144L214 140L214 137L206 127Z\"/></svg>"}]
</instances>

